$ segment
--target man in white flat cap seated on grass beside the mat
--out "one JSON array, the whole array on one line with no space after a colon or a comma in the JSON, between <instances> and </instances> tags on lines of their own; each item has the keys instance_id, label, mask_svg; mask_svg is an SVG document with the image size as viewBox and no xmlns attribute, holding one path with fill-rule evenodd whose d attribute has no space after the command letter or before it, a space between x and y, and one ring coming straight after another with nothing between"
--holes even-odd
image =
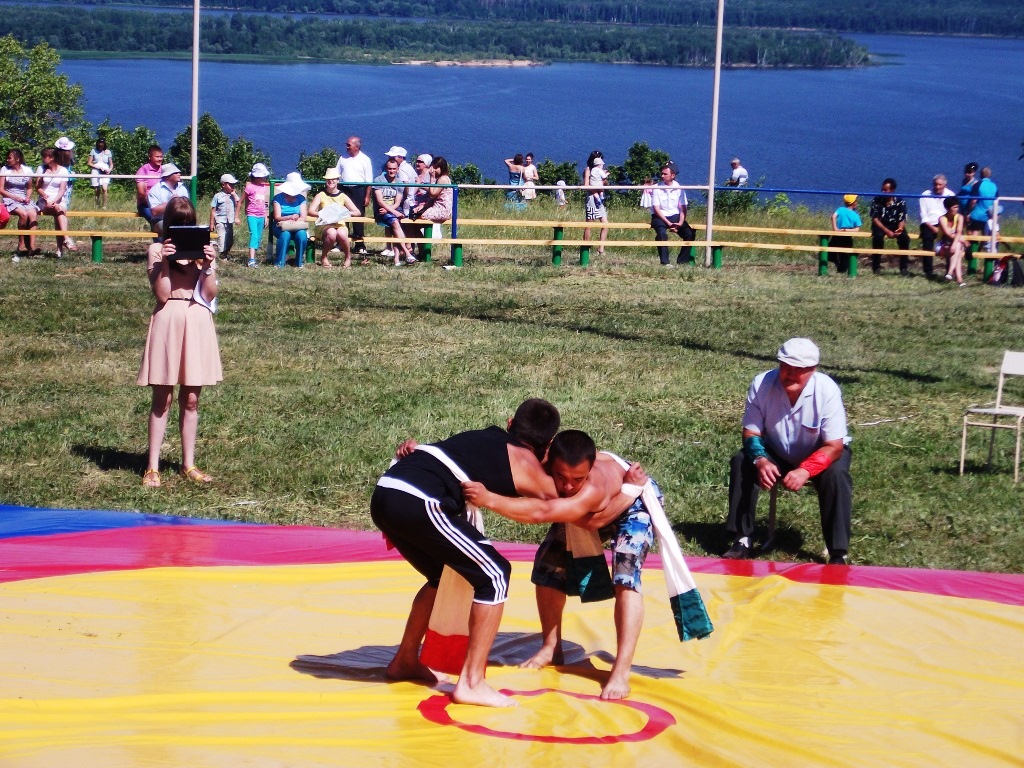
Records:
<instances>
[{"instance_id":1,"label":"man in white flat cap seated on grass beside the mat","mask_svg":"<svg viewBox=\"0 0 1024 768\"><path fill-rule=\"evenodd\" d=\"M761 488L781 483L786 490L800 490L810 480L818 493L828 563L847 563L853 513L850 435L839 385L818 373L818 359L813 341L790 339L778 350L778 368L751 384L743 450L732 457L729 470L725 527L735 543L726 558L742 559L754 551Z\"/></svg>"}]
</instances>

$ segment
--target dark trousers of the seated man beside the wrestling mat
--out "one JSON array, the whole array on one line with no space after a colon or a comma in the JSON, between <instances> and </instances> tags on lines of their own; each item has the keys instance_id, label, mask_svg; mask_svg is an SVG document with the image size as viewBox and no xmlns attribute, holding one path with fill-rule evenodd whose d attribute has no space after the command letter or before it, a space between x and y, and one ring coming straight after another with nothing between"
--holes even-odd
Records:
<instances>
[{"instance_id":1,"label":"dark trousers of the seated man beside the wrestling mat","mask_svg":"<svg viewBox=\"0 0 1024 768\"><path fill-rule=\"evenodd\" d=\"M812 477L811 483L818 493L818 511L821 513L821 536L829 554L846 554L850 549L850 527L853 517L853 478L850 475L850 447L843 449L839 459L828 465L821 474ZM768 458L778 467L783 476L795 469L792 464ZM732 457L729 466L729 516L725 529L736 539L748 537L753 540L754 519L758 509L758 468L740 451Z\"/></svg>"}]
</instances>

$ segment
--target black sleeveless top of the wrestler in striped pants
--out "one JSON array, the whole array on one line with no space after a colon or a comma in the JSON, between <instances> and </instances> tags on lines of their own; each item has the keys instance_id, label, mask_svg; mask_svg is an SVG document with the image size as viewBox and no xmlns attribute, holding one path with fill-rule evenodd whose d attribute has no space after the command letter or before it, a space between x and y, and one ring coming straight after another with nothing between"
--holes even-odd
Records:
<instances>
[{"instance_id":1,"label":"black sleeveless top of the wrestler in striped pants","mask_svg":"<svg viewBox=\"0 0 1024 768\"><path fill-rule=\"evenodd\" d=\"M508 446L519 443L504 429L487 427L460 432L434 444L458 464L469 479L482 482L495 494L518 496L512 479ZM447 467L422 451L414 451L384 474L404 480L429 497L440 499L445 510L461 511L465 506L459 480Z\"/></svg>"}]
</instances>

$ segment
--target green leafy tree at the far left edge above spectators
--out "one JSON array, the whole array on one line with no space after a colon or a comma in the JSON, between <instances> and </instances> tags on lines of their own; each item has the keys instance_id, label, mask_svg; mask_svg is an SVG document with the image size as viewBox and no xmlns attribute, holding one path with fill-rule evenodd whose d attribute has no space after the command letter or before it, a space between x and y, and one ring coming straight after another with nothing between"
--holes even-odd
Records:
<instances>
[{"instance_id":1,"label":"green leafy tree at the far left edge above spectators","mask_svg":"<svg viewBox=\"0 0 1024 768\"><path fill-rule=\"evenodd\" d=\"M52 144L85 114L82 86L57 73L59 62L46 43L26 49L13 35L0 38L0 139L26 155Z\"/></svg>"}]
</instances>

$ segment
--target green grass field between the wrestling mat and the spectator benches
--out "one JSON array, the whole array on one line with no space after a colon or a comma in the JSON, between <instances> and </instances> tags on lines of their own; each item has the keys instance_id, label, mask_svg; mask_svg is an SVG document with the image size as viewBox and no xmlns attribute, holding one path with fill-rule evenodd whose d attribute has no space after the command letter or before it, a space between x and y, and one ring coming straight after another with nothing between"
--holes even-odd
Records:
<instances>
[{"instance_id":1,"label":"green grass field between the wrestling mat and the spectator benches","mask_svg":"<svg viewBox=\"0 0 1024 768\"><path fill-rule=\"evenodd\" d=\"M494 215L488 205L500 207L480 202L469 215ZM973 432L968 474L957 470L965 407L993 399L1002 351L1024 348L1024 293L977 276L966 289L863 266L855 280L818 278L813 254L729 251L721 270L666 270L653 249L612 249L583 269L574 250L552 267L545 249L514 247L467 247L453 271L441 253L401 269L381 259L300 272L247 269L237 246L216 317L226 378L201 407L199 464L216 482L174 476L172 422L165 483L151 490L140 485L150 396L134 384L154 304L141 244L108 246L98 265L86 248L18 264L11 239L0 249L5 503L367 528L400 439L504 423L537 395L565 426L641 461L685 552L718 555L746 387L800 335L843 387L853 561L1024 569L1012 438L997 435L987 471L988 433ZM488 525L496 539L543 535ZM772 559L813 559L821 547L813 493L784 495Z\"/></svg>"}]
</instances>

